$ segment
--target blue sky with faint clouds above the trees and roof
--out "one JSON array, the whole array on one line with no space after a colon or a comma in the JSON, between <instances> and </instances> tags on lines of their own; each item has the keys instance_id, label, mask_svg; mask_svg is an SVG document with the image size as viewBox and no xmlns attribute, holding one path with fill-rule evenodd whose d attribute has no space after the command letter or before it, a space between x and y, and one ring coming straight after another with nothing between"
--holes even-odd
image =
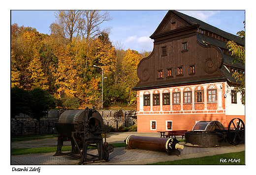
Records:
<instances>
[{"instance_id":1,"label":"blue sky with faint clouds above the trees and roof","mask_svg":"<svg viewBox=\"0 0 256 175\"><path fill-rule=\"evenodd\" d=\"M109 38L113 44L120 42L124 50L152 51L153 40L149 38L168 10L107 10L112 21L101 28L111 26ZM177 10L197 18L226 32L236 35L244 30L244 10ZM39 33L50 34L49 26L55 22L55 10L11 10L11 24L30 26Z\"/></svg>"}]
</instances>

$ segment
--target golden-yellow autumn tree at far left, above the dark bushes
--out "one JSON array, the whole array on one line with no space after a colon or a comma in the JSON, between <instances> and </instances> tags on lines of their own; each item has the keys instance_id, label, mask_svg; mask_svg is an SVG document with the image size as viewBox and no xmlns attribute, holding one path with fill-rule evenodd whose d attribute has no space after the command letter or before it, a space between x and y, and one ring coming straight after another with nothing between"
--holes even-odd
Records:
<instances>
[{"instance_id":1,"label":"golden-yellow autumn tree at far left, above the dark bushes","mask_svg":"<svg viewBox=\"0 0 256 175\"><path fill-rule=\"evenodd\" d=\"M40 57L42 35L32 27L12 25L11 35L11 87L48 89Z\"/></svg>"}]
</instances>

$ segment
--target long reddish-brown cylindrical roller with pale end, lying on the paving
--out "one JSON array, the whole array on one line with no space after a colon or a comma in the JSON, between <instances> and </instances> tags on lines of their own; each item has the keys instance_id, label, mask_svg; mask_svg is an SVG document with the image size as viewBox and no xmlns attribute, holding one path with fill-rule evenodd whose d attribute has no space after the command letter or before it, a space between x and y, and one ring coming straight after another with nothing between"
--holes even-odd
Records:
<instances>
[{"instance_id":1,"label":"long reddish-brown cylindrical roller with pale end, lying on the paving","mask_svg":"<svg viewBox=\"0 0 256 175\"><path fill-rule=\"evenodd\" d=\"M168 152L168 155L178 155L183 149L183 145L179 145L179 141L175 138L157 138L129 135L125 140L129 149L153 150L160 152Z\"/></svg>"}]
</instances>

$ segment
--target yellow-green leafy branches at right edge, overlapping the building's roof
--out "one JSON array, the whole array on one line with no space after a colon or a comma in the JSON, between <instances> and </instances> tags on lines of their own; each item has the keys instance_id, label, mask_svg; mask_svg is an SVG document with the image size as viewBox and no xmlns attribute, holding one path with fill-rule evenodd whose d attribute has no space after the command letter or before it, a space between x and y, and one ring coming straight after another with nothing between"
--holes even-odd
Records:
<instances>
[{"instance_id":1,"label":"yellow-green leafy branches at right edge, overlapping the building's roof","mask_svg":"<svg viewBox=\"0 0 256 175\"><path fill-rule=\"evenodd\" d=\"M245 21L244 21L245 25ZM238 37L244 42L245 41L245 31L239 31L237 32ZM232 63L241 63L242 65L245 65L245 47L238 45L234 41L228 41L227 46L230 48L229 51L231 51L231 55L235 58L232 60ZM241 101L245 105L245 73L243 72L234 72L232 75L236 82L240 82L241 85L234 88L237 92L240 92L242 95Z\"/></svg>"}]
</instances>

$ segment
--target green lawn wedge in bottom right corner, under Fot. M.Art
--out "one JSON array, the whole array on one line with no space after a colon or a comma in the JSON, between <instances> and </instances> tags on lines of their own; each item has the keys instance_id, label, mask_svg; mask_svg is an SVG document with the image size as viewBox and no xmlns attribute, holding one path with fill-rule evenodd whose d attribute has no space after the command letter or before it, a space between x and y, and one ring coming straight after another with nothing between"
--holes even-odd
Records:
<instances>
[{"instance_id":1,"label":"green lawn wedge in bottom right corner, under Fot. M.Art","mask_svg":"<svg viewBox=\"0 0 256 175\"><path fill-rule=\"evenodd\" d=\"M234 159L238 161L235 162ZM225 154L196 157L190 159L158 162L147 165L245 165L245 151L230 152Z\"/></svg>"}]
</instances>

